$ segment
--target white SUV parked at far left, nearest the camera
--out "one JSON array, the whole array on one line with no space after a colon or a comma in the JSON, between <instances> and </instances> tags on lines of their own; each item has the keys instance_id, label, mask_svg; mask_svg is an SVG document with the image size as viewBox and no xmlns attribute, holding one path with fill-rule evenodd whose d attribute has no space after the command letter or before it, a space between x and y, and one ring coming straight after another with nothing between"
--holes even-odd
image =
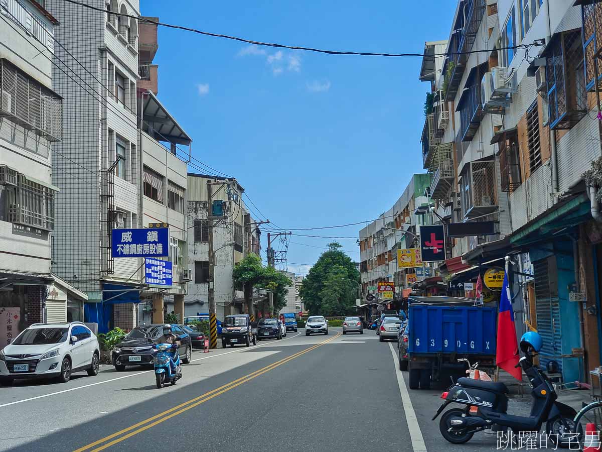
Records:
<instances>
[{"instance_id":1,"label":"white SUV parked at far left, nearest the camera","mask_svg":"<svg viewBox=\"0 0 602 452\"><path fill-rule=\"evenodd\" d=\"M98 338L82 322L33 324L0 350L0 385L15 378L57 378L66 383L73 372L98 374Z\"/></svg>"}]
</instances>

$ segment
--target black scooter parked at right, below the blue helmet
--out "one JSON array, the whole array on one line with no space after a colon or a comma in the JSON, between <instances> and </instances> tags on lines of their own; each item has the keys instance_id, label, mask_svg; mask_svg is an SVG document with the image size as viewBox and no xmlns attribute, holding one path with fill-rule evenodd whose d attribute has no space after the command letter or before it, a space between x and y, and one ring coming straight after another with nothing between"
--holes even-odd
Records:
<instances>
[{"instance_id":1,"label":"black scooter parked at right, below the blue helmet","mask_svg":"<svg viewBox=\"0 0 602 452\"><path fill-rule=\"evenodd\" d=\"M535 354L532 351L527 352L517 365L523 368L532 386L533 406L529 416L506 413L508 388L503 383L458 378L455 385L441 394L445 401L432 419L434 421L450 403L465 406L448 410L441 416L439 430L443 438L453 444L464 444L473 438L474 433L494 425L497 431L510 428L512 433L518 433L539 432L545 423L545 432L550 441L559 447L568 447L574 427L573 418L577 413L568 405L556 401L558 396L554 386L547 375L533 365L533 356Z\"/></svg>"}]
</instances>

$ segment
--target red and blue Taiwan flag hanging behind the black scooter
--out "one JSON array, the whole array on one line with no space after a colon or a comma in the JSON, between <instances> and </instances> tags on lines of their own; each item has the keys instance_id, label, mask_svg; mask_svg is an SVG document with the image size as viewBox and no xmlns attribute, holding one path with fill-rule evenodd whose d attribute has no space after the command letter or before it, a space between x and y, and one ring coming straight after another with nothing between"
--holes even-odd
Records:
<instances>
[{"instance_id":1,"label":"red and blue Taiwan flag hanging behind the black scooter","mask_svg":"<svg viewBox=\"0 0 602 452\"><path fill-rule=\"evenodd\" d=\"M522 380L521 368L514 367L518 364L519 356L517 331L514 329L514 311L512 311L510 298L508 277L504 274L504 283L501 286L500 312L497 315L495 364L517 380Z\"/></svg>"}]
</instances>

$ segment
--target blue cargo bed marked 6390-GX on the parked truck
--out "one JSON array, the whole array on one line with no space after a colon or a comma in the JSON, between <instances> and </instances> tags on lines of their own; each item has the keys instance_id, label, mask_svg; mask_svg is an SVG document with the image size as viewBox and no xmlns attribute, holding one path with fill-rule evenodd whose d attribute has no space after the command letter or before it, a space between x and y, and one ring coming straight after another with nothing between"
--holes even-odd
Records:
<instances>
[{"instance_id":1,"label":"blue cargo bed marked 6390-GX on the parked truck","mask_svg":"<svg viewBox=\"0 0 602 452\"><path fill-rule=\"evenodd\" d=\"M408 309L409 354L495 354L497 309L421 304Z\"/></svg>"}]
</instances>

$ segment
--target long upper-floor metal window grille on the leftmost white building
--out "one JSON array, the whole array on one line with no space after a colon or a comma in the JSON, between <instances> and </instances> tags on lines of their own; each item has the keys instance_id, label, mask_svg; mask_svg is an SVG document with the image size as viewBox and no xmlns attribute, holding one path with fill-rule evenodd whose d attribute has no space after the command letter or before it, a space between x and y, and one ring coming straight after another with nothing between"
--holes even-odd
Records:
<instances>
[{"instance_id":1,"label":"long upper-floor metal window grille on the leftmost white building","mask_svg":"<svg viewBox=\"0 0 602 452\"><path fill-rule=\"evenodd\" d=\"M63 101L60 96L1 58L0 116L49 141L61 140Z\"/></svg>"}]
</instances>

